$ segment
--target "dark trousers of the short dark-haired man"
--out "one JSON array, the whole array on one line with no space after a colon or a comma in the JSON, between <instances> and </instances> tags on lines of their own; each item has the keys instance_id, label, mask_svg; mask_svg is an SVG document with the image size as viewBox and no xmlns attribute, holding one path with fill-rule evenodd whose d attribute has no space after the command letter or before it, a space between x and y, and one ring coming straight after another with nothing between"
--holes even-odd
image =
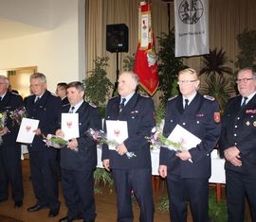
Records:
<instances>
[{"instance_id":1,"label":"dark trousers of the short dark-haired man","mask_svg":"<svg viewBox=\"0 0 256 222\"><path fill-rule=\"evenodd\" d=\"M84 221L95 219L93 173L93 169L67 170L62 168L63 193L69 218L82 215Z\"/></svg>"}]
</instances>

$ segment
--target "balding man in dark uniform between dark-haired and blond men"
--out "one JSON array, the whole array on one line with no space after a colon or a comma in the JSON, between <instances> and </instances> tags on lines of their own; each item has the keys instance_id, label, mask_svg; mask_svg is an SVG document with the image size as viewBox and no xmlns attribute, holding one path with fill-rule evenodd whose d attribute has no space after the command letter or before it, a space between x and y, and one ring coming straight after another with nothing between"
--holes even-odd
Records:
<instances>
[{"instance_id":1,"label":"balding man in dark uniform between dark-haired and blond men","mask_svg":"<svg viewBox=\"0 0 256 222\"><path fill-rule=\"evenodd\" d=\"M135 93L137 83L134 73L122 73L119 76L119 96L109 100L105 115L106 121L126 121L128 126L128 138L116 150L109 150L107 145L102 147L103 165L113 173L119 222L134 221L132 191L140 207L139 221L152 222L154 219L150 145L145 136L150 136L155 126L155 108L150 97ZM136 156L128 158L128 152L134 152Z\"/></svg>"}]
</instances>

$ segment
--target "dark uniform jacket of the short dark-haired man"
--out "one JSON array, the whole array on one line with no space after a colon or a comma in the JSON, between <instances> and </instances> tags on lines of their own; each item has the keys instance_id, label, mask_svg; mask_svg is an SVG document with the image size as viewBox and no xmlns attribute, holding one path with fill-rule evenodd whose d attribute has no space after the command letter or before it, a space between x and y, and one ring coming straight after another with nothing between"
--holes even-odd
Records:
<instances>
[{"instance_id":1,"label":"dark uniform jacket of the short dark-haired man","mask_svg":"<svg viewBox=\"0 0 256 222\"><path fill-rule=\"evenodd\" d=\"M69 106L65 106L63 112L68 112ZM64 147L61 149L61 166L67 170L92 169L97 164L97 145L84 133L88 128L101 129L101 117L98 110L83 101L77 111L79 113L78 151Z\"/></svg>"}]
</instances>

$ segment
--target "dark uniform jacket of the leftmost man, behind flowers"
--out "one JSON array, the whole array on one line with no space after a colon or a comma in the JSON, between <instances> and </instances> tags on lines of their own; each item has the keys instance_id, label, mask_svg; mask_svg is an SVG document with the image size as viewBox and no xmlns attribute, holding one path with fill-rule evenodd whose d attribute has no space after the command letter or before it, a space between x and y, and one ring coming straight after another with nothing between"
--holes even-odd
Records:
<instances>
[{"instance_id":1,"label":"dark uniform jacket of the leftmost man, behind flowers","mask_svg":"<svg viewBox=\"0 0 256 222\"><path fill-rule=\"evenodd\" d=\"M14 111L23 106L21 95L8 92L0 102L0 111ZM9 132L3 136L4 145L15 145L19 126L9 117L6 126L9 128Z\"/></svg>"}]
</instances>

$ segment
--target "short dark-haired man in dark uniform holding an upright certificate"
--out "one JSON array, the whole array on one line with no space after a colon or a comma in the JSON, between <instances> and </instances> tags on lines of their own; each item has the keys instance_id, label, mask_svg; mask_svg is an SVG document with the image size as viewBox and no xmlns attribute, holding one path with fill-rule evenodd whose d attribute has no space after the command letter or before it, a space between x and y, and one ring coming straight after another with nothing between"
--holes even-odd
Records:
<instances>
[{"instance_id":1,"label":"short dark-haired man in dark uniform holding an upright certificate","mask_svg":"<svg viewBox=\"0 0 256 222\"><path fill-rule=\"evenodd\" d=\"M71 82L66 87L70 106L63 112L79 114L80 137L71 139L61 149L62 184L67 215L60 222L72 222L83 219L95 221L94 169L97 164L96 143L84 133L88 128L101 129L101 118L96 107L83 100L84 88L81 82ZM64 137L58 129L56 134Z\"/></svg>"}]
</instances>

